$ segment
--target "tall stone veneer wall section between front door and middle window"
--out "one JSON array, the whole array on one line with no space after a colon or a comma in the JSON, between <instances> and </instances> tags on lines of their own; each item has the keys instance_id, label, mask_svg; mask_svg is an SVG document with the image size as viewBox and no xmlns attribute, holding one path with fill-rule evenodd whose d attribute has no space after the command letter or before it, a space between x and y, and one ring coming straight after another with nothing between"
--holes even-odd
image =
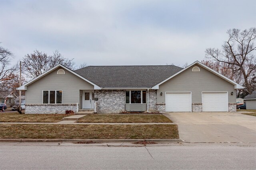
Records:
<instances>
[{"instance_id":1,"label":"tall stone veneer wall section between front door and middle window","mask_svg":"<svg viewBox=\"0 0 256 170\"><path fill-rule=\"evenodd\" d=\"M98 113L120 113L125 110L125 90L95 90Z\"/></svg>"}]
</instances>

